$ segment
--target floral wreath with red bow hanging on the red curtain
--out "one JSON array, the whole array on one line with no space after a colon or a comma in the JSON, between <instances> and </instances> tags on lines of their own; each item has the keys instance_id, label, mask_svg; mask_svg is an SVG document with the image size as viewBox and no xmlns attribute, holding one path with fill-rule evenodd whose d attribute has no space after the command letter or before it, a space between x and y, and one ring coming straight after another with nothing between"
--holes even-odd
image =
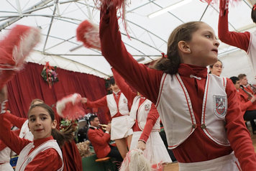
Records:
<instances>
[{"instance_id":1,"label":"floral wreath with red bow hanging on the red curtain","mask_svg":"<svg viewBox=\"0 0 256 171\"><path fill-rule=\"evenodd\" d=\"M57 77L58 73L56 73L57 67L50 66L49 62L45 63L45 67L42 69L42 78L47 82L48 86L52 88L53 83L58 82L59 79Z\"/></svg>"}]
</instances>

